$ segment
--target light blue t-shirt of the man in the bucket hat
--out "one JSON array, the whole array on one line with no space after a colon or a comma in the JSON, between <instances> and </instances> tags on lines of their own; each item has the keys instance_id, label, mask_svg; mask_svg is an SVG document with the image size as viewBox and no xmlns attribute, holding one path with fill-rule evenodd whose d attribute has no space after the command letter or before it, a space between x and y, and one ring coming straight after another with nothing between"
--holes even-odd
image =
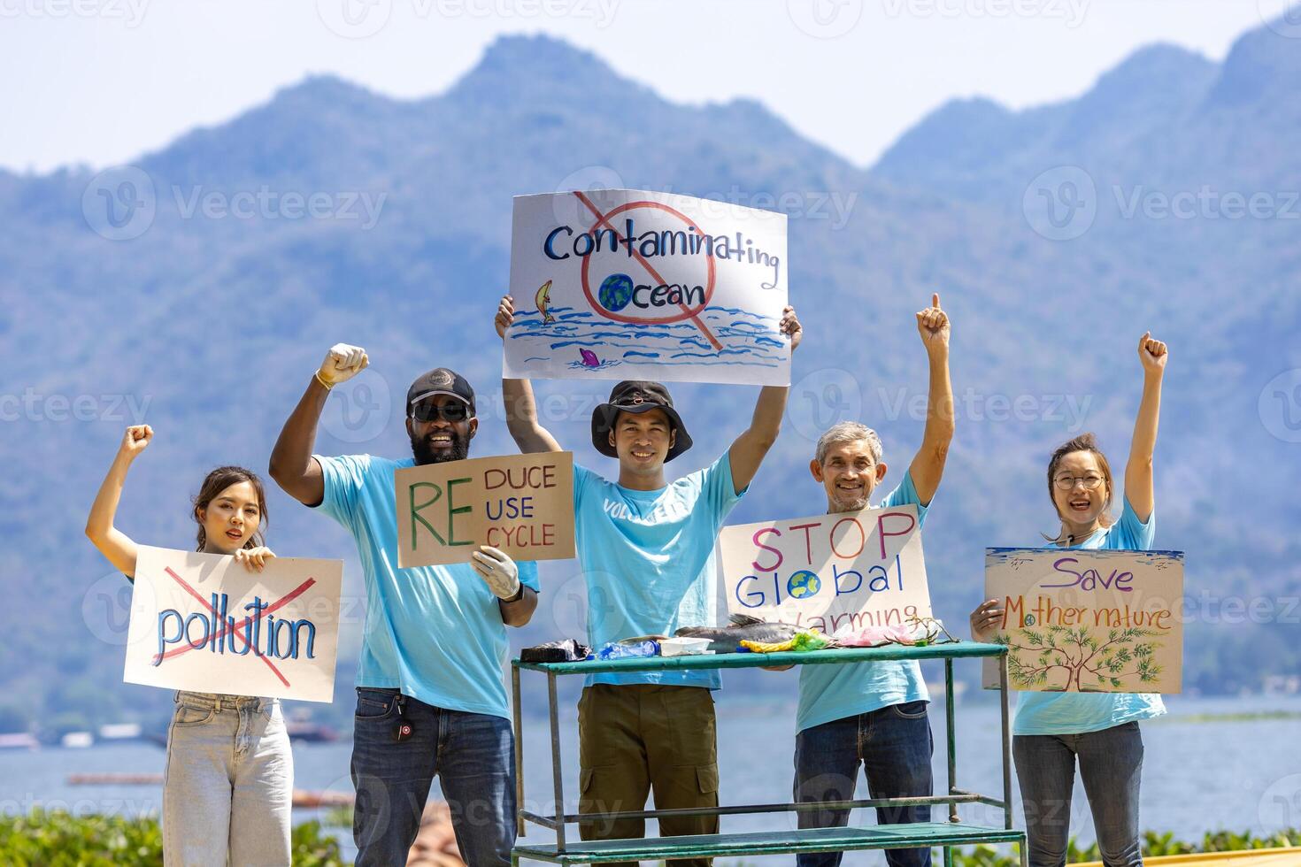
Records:
<instances>
[{"instance_id":1,"label":"light blue t-shirt of the man in the bucket hat","mask_svg":"<svg viewBox=\"0 0 1301 867\"><path fill-rule=\"evenodd\" d=\"M593 650L608 641L717 624L714 539L742 494L732 486L727 454L653 491L628 490L574 467L578 560ZM666 671L591 675L587 682L718 689L719 677L717 671Z\"/></svg>"}]
</instances>

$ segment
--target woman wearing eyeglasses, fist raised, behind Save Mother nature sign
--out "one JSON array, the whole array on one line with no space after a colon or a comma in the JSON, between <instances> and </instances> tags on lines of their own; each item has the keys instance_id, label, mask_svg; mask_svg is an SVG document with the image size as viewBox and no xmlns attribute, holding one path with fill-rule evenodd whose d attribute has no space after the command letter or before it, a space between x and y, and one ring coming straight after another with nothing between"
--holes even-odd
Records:
<instances>
[{"instance_id":1,"label":"woman wearing eyeglasses, fist raised, behind Save Mother nature sign","mask_svg":"<svg viewBox=\"0 0 1301 867\"><path fill-rule=\"evenodd\" d=\"M1160 412L1166 344L1138 341L1144 369L1142 402L1134 421L1120 517L1112 519L1111 465L1093 434L1063 443L1049 460L1049 495L1060 519L1058 547L1149 550L1153 546L1151 458ZM972 637L987 641L1003 619L998 599L971 615ZM1142 864L1138 842L1138 777L1142 736L1138 721L1166 712L1160 695L1145 693L1020 694L1012 728L1012 755L1025 809L1030 867L1066 864L1071 790L1076 763L1093 812L1098 849L1107 867Z\"/></svg>"}]
</instances>

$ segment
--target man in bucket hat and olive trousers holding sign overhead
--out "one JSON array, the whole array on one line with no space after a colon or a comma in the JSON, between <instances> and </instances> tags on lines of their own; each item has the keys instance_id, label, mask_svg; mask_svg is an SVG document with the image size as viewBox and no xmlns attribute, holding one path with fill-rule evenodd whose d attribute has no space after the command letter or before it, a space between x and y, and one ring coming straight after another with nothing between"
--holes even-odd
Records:
<instances>
[{"instance_id":1,"label":"man in bucket hat and olive trousers holding sign overhead","mask_svg":"<svg viewBox=\"0 0 1301 867\"><path fill-rule=\"evenodd\" d=\"M514 320L507 295L497 333ZM781 333L794 351L803 335L795 311ZM691 435L658 382L619 382L592 415L592 445L619 461L610 482L574 467L578 556L587 582L588 638L593 647L632 636L673 634L679 627L714 625L713 549L727 513L749 486L777 439L786 386L760 391L749 428L705 469L671 485L664 465L691 448ZM561 451L537 422L527 380L502 380L506 424L523 452ZM579 812L635 811L654 790L656 809L718 806L714 744L714 671L596 675L579 702ZM588 822L584 840L640 837L639 819ZM664 836L718 832L717 816L660 819ZM708 859L674 861L703 866Z\"/></svg>"}]
</instances>

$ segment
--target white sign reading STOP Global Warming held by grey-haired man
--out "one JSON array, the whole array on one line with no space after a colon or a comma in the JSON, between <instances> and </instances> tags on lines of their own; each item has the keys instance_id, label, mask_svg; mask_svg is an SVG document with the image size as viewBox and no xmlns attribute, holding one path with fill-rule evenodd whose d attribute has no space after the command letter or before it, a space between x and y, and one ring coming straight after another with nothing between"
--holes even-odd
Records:
<instances>
[{"instance_id":1,"label":"white sign reading STOP Global Warming held by grey-haired man","mask_svg":"<svg viewBox=\"0 0 1301 867\"><path fill-rule=\"evenodd\" d=\"M916 506L725 526L730 614L830 634L930 616Z\"/></svg>"}]
</instances>

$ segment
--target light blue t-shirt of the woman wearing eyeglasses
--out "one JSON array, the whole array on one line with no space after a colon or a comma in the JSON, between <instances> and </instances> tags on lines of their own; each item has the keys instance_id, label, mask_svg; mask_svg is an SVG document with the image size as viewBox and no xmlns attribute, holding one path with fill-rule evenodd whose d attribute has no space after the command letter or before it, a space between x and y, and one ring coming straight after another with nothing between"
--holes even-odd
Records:
<instances>
[{"instance_id":1,"label":"light blue t-shirt of the woman wearing eyeglasses","mask_svg":"<svg viewBox=\"0 0 1301 867\"><path fill-rule=\"evenodd\" d=\"M1147 551L1157 534L1157 513L1144 524L1129 498L1120 520L1101 529L1073 549ZM1085 734L1114 725L1146 720L1166 712L1155 693L1021 693L1016 701L1013 734Z\"/></svg>"}]
</instances>

